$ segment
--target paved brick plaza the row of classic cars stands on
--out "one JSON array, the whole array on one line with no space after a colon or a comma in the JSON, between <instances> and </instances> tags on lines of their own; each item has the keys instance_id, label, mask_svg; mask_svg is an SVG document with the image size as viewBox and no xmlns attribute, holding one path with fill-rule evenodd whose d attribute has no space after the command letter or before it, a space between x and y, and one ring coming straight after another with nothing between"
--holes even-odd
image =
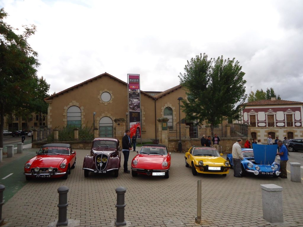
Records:
<instances>
[{"instance_id":1,"label":"paved brick plaza the row of classic cars stands on","mask_svg":"<svg viewBox=\"0 0 303 227\"><path fill-rule=\"evenodd\" d=\"M57 189L60 186L69 187L67 217L80 223L75 226L113 226L118 186L127 189L125 220L128 226L303 226L302 183L291 182L290 175L288 179L236 178L231 170L226 177L193 176L191 169L185 167L184 153L172 153L169 179L132 177L123 173L123 167L118 178L113 174L84 178L82 164L89 150L76 150L76 153L76 168L67 180L29 181L4 204L5 226L53 226L58 220ZM129 169L134 156L135 152L131 151ZM123 166L123 155L121 163ZM201 225L195 224L198 179L202 179ZM283 187L282 224L271 224L262 218L260 184L271 183Z\"/></svg>"}]
</instances>

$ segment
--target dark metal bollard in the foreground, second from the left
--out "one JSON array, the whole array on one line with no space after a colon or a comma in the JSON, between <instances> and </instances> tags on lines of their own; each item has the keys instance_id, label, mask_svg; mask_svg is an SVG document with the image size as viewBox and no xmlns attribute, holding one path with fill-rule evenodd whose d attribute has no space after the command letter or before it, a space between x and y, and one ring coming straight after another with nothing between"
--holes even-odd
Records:
<instances>
[{"instance_id":1,"label":"dark metal bollard in the foreground, second from the left","mask_svg":"<svg viewBox=\"0 0 303 227\"><path fill-rule=\"evenodd\" d=\"M59 207L59 215L58 215L58 222L56 224L56 226L63 226L63 225L67 225L68 224L68 220L66 218L67 215L67 206L68 206L68 202L67 202L67 192L68 192L69 188L66 186L61 186L58 188L58 193L59 193L59 203L58 203L58 207Z\"/></svg>"}]
</instances>

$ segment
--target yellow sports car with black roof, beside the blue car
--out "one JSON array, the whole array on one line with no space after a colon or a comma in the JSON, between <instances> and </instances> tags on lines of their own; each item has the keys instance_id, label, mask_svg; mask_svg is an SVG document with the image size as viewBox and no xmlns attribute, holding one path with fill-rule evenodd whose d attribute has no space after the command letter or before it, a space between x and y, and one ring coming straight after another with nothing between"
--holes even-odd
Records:
<instances>
[{"instance_id":1,"label":"yellow sports car with black roof, beside the blue car","mask_svg":"<svg viewBox=\"0 0 303 227\"><path fill-rule=\"evenodd\" d=\"M185 166L191 166L193 175L197 173L222 174L229 173L229 162L222 158L223 154L214 147L191 146L185 153Z\"/></svg>"}]
</instances>

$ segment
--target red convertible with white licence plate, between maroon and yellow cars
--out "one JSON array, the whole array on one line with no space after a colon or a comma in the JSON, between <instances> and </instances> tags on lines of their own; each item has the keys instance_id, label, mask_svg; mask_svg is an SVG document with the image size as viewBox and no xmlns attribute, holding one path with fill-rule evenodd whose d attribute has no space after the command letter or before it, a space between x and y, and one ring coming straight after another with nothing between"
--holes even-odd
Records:
<instances>
[{"instance_id":1,"label":"red convertible with white licence plate, between maroon and yellow cars","mask_svg":"<svg viewBox=\"0 0 303 227\"><path fill-rule=\"evenodd\" d=\"M160 144L143 145L140 152L132 160L132 176L138 173L150 176L169 177L171 153L166 146Z\"/></svg>"}]
</instances>

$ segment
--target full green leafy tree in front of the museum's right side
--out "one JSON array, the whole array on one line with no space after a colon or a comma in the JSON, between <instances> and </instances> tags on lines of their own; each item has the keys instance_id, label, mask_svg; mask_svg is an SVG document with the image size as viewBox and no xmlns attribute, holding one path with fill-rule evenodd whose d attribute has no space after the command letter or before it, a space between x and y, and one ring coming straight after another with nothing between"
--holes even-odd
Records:
<instances>
[{"instance_id":1,"label":"full green leafy tree in front of the museum's right side","mask_svg":"<svg viewBox=\"0 0 303 227\"><path fill-rule=\"evenodd\" d=\"M208 59L205 53L187 61L185 73L179 75L187 95L181 106L186 118L197 121L198 125L205 120L212 135L214 125L227 118L239 119L241 104L247 97L245 73L241 69L235 58Z\"/></svg>"}]
</instances>

